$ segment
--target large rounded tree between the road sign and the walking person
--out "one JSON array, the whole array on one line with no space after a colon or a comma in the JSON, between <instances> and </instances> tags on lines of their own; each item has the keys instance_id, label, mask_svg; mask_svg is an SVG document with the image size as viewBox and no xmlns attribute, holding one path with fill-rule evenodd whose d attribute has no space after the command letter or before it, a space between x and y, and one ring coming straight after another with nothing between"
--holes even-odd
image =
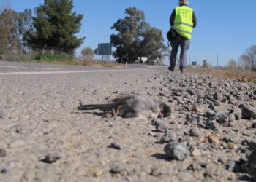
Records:
<instances>
[{"instance_id":1,"label":"large rounded tree between the road sign and the walking person","mask_svg":"<svg viewBox=\"0 0 256 182\"><path fill-rule=\"evenodd\" d=\"M129 7L125 9L124 19L117 20L112 29L118 33L110 36L110 43L116 47L113 56L119 63L133 62L146 56L150 60L159 57L162 47L162 31L151 28L145 21L144 12Z\"/></svg>"}]
</instances>

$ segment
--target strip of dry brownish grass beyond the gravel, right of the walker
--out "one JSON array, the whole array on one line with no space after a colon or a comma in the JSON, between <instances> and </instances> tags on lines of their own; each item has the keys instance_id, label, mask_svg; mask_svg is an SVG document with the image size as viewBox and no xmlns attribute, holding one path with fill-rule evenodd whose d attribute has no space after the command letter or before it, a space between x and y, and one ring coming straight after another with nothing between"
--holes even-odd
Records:
<instances>
[{"instance_id":1,"label":"strip of dry brownish grass beyond the gravel, right of the walker","mask_svg":"<svg viewBox=\"0 0 256 182\"><path fill-rule=\"evenodd\" d=\"M221 78L228 78L234 80L241 80L243 82L254 82L256 84L256 72L255 71L238 71L227 69L214 69L214 68L188 68L189 73L218 76Z\"/></svg>"}]
</instances>

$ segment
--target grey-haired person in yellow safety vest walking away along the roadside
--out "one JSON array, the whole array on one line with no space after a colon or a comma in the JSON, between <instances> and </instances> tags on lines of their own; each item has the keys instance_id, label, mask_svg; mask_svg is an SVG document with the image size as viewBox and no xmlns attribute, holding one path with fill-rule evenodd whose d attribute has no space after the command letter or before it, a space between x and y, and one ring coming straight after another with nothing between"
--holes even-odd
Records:
<instances>
[{"instance_id":1,"label":"grey-haired person in yellow safety vest walking away along the roadside","mask_svg":"<svg viewBox=\"0 0 256 182\"><path fill-rule=\"evenodd\" d=\"M174 71L178 47L181 47L180 71L183 73L187 66L187 50L189 49L192 30L197 25L197 18L192 8L188 7L189 0L179 0L179 7L176 7L170 16L171 31L173 39L169 40L172 47L170 54L170 66L168 69Z\"/></svg>"}]
</instances>

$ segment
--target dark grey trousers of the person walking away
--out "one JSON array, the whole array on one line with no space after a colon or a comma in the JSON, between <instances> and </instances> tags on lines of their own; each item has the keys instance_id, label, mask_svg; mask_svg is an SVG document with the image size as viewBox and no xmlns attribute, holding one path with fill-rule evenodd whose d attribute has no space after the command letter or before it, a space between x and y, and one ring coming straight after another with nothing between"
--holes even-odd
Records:
<instances>
[{"instance_id":1,"label":"dark grey trousers of the person walking away","mask_svg":"<svg viewBox=\"0 0 256 182\"><path fill-rule=\"evenodd\" d=\"M189 49L189 39L176 33L176 38L170 42L172 52L170 54L170 69L174 70L176 66L176 56L178 53L178 47L181 47L180 55L180 70L184 71L187 66L187 50Z\"/></svg>"}]
</instances>

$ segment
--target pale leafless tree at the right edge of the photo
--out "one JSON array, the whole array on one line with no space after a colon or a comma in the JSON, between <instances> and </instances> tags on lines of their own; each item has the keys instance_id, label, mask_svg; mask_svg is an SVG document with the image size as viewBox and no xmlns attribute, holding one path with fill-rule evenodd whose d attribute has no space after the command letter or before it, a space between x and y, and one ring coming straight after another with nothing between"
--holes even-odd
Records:
<instances>
[{"instance_id":1,"label":"pale leafless tree at the right edge of the photo","mask_svg":"<svg viewBox=\"0 0 256 182\"><path fill-rule=\"evenodd\" d=\"M245 54L239 58L239 61L246 70L256 71L256 45L247 48Z\"/></svg>"}]
</instances>

